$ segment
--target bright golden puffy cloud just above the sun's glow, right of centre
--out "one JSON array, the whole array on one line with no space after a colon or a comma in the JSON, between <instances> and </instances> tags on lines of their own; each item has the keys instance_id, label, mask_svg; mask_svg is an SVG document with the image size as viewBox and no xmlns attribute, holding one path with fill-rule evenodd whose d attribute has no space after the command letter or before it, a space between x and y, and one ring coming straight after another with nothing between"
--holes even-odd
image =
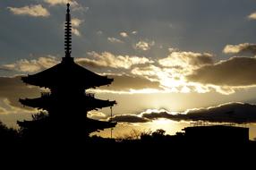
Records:
<instances>
[{"instance_id":1,"label":"bright golden puffy cloud just above the sun's glow, right of centre","mask_svg":"<svg viewBox=\"0 0 256 170\"><path fill-rule=\"evenodd\" d=\"M158 60L158 63L165 67L181 67L183 69L198 68L203 65L213 64L213 55L208 53L194 53L184 51L170 51L166 58Z\"/></svg>"}]
</instances>

